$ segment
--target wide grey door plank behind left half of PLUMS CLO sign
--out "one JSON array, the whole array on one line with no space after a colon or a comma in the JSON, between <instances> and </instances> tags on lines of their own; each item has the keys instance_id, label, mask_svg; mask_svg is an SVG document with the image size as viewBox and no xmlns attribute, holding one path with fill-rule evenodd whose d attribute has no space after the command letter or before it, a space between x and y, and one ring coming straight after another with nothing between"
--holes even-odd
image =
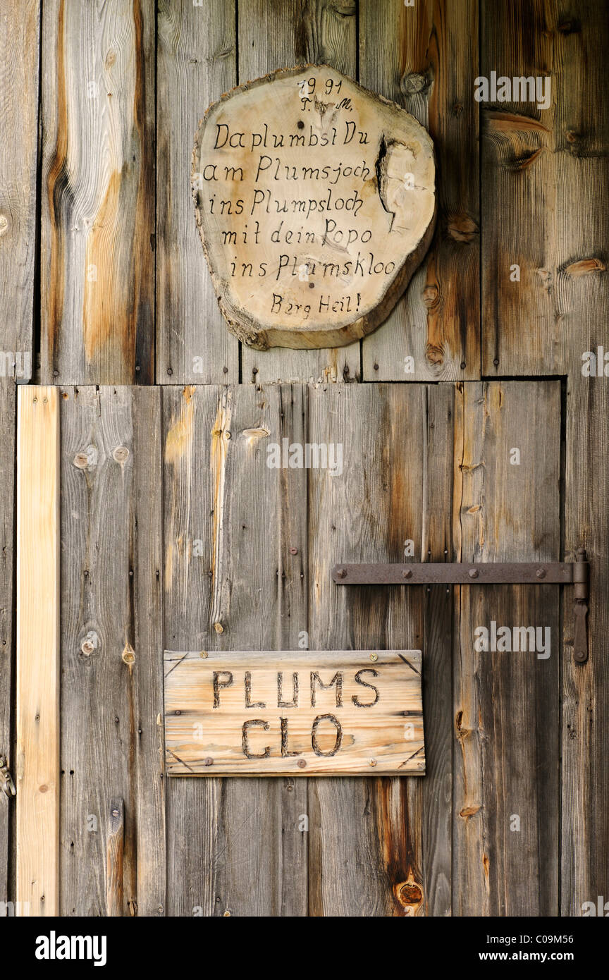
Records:
<instances>
[{"instance_id":1,"label":"wide grey door plank behind left half of PLUMS CLO sign","mask_svg":"<svg viewBox=\"0 0 609 980\"><path fill-rule=\"evenodd\" d=\"M306 610L302 388L164 389L166 649L297 649ZM306 781L167 786L169 914L304 915Z\"/></svg>"}]
</instances>

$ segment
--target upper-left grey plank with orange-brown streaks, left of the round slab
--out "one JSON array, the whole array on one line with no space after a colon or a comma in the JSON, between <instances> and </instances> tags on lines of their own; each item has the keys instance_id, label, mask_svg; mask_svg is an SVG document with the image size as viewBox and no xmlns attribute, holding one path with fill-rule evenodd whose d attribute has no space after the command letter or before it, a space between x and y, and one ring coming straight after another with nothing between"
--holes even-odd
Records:
<instances>
[{"instance_id":1,"label":"upper-left grey plank with orange-brown streaks, left of the round slab","mask_svg":"<svg viewBox=\"0 0 609 980\"><path fill-rule=\"evenodd\" d=\"M155 11L51 0L42 44L41 378L155 377Z\"/></svg>"}]
</instances>

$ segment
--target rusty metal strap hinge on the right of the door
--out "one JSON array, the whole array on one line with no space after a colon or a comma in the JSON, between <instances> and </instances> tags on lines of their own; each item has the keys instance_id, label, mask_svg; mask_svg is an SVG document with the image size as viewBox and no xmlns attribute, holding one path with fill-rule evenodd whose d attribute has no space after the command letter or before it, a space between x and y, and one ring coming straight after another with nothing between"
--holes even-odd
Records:
<instances>
[{"instance_id":1,"label":"rusty metal strap hinge on the right of the door","mask_svg":"<svg viewBox=\"0 0 609 980\"><path fill-rule=\"evenodd\" d=\"M589 564L580 548L575 562L419 562L336 564L338 585L570 585L574 588L574 659L587 660Z\"/></svg>"}]
</instances>

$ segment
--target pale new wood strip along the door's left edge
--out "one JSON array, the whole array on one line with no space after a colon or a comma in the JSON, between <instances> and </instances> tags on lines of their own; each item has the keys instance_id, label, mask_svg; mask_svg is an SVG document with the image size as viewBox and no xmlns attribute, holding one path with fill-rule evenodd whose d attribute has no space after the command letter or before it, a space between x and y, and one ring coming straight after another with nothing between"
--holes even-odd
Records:
<instances>
[{"instance_id":1,"label":"pale new wood strip along the door's left edge","mask_svg":"<svg viewBox=\"0 0 609 980\"><path fill-rule=\"evenodd\" d=\"M56 388L19 391L17 901L59 913L59 411Z\"/></svg>"}]
</instances>

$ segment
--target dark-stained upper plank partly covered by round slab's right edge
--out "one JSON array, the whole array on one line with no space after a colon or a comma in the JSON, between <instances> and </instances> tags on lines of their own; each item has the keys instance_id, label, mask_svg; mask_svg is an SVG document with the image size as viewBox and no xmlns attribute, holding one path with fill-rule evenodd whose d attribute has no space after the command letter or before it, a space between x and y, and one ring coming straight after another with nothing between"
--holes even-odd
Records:
<instances>
[{"instance_id":1,"label":"dark-stained upper plank partly covered by round slab's right edge","mask_svg":"<svg viewBox=\"0 0 609 980\"><path fill-rule=\"evenodd\" d=\"M475 0L416 0L408 7L402 0L361 0L359 81L429 130L439 204L422 267L384 326L362 342L366 381L480 376L477 74Z\"/></svg>"}]
</instances>

